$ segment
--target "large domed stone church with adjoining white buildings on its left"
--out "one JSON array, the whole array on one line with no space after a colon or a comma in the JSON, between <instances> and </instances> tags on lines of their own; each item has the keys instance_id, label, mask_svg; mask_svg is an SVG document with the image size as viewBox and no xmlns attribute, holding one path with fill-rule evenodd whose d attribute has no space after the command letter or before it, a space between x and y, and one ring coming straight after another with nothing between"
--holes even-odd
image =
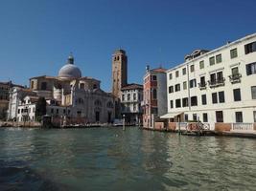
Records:
<instances>
[{"instance_id":1,"label":"large domed stone church with adjoining white buildings on its left","mask_svg":"<svg viewBox=\"0 0 256 191\"><path fill-rule=\"evenodd\" d=\"M58 76L36 76L30 78L30 90L13 89L9 118L22 121L18 111L36 111L35 96L47 100L47 114L52 117L82 118L85 122L112 122L115 116L114 98L101 90L101 82L81 76L81 70L70 55ZM26 94L27 93L27 94ZM25 107L25 108L24 108ZM31 110L30 110L31 108ZM35 117L27 115L29 120ZM25 118L28 119L28 118Z\"/></svg>"}]
</instances>

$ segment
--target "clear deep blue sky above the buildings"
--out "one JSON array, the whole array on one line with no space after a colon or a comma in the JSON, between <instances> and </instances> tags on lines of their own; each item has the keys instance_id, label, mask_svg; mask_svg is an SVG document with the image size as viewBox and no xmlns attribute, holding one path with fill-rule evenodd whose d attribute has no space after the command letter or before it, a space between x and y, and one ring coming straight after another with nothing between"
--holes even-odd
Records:
<instances>
[{"instance_id":1,"label":"clear deep blue sky above the buildings","mask_svg":"<svg viewBox=\"0 0 256 191\"><path fill-rule=\"evenodd\" d=\"M255 0L1 0L0 81L57 75L72 52L111 89L111 54L128 53L128 82L147 64L171 68L195 49L256 32Z\"/></svg>"}]
</instances>

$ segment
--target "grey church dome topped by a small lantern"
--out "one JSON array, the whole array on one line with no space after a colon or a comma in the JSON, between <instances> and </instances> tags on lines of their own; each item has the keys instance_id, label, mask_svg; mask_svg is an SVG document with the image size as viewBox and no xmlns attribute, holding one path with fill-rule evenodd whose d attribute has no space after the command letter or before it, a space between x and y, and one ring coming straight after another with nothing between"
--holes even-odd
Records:
<instances>
[{"instance_id":1,"label":"grey church dome topped by a small lantern","mask_svg":"<svg viewBox=\"0 0 256 191\"><path fill-rule=\"evenodd\" d=\"M81 70L74 65L73 55L68 56L67 63L58 71L58 77L63 78L79 78L81 77Z\"/></svg>"}]
</instances>

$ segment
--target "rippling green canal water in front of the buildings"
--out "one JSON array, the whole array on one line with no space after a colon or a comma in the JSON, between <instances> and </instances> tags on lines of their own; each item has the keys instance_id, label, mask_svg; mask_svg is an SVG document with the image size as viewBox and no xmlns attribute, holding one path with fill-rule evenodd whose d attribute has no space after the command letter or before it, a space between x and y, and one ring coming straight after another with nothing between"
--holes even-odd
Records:
<instances>
[{"instance_id":1,"label":"rippling green canal water in front of the buildings","mask_svg":"<svg viewBox=\"0 0 256 191\"><path fill-rule=\"evenodd\" d=\"M0 190L255 190L256 139L0 129Z\"/></svg>"}]
</instances>

